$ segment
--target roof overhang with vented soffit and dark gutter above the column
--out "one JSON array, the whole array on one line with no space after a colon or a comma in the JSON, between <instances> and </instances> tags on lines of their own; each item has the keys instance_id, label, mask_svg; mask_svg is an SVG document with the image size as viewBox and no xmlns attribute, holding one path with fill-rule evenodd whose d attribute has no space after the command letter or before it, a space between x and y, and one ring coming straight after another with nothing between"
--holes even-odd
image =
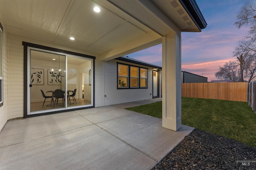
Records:
<instances>
[{"instance_id":1,"label":"roof overhang with vented soffit and dark gutter above the column","mask_svg":"<svg viewBox=\"0 0 256 170\"><path fill-rule=\"evenodd\" d=\"M195 0L108 1L161 36L173 30L200 32L207 25Z\"/></svg>"}]
</instances>

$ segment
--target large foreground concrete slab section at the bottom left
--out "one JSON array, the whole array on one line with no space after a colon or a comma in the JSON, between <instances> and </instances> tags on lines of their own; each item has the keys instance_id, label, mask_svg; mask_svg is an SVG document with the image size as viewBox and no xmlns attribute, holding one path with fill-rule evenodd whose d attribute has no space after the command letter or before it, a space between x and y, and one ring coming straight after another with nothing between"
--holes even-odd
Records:
<instances>
[{"instance_id":1,"label":"large foreground concrete slab section at the bottom left","mask_svg":"<svg viewBox=\"0 0 256 170\"><path fill-rule=\"evenodd\" d=\"M6 170L149 169L156 161L96 125L0 149Z\"/></svg>"}]
</instances>

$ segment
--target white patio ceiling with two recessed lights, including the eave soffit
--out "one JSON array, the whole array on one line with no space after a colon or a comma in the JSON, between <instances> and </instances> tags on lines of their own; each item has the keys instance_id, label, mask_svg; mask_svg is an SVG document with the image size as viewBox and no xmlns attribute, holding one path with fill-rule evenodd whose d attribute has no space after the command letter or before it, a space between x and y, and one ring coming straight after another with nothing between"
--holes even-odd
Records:
<instances>
[{"instance_id":1,"label":"white patio ceiling with two recessed lights, including the eave soffit","mask_svg":"<svg viewBox=\"0 0 256 170\"><path fill-rule=\"evenodd\" d=\"M101 59L160 43L171 27L200 31L178 0L109 1L0 0L0 19L8 33ZM101 11L94 12L94 6Z\"/></svg>"}]
</instances>

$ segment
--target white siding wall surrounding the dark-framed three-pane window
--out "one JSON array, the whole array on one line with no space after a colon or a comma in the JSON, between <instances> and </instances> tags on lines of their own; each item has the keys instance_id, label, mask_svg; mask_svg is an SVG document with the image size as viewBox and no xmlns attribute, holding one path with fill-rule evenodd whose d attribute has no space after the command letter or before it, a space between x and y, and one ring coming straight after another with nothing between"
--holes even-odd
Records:
<instances>
[{"instance_id":1,"label":"white siding wall surrounding the dark-framed three-pane window","mask_svg":"<svg viewBox=\"0 0 256 170\"><path fill-rule=\"evenodd\" d=\"M117 63L124 63L133 66L146 66L126 63L122 61L111 60L104 63L104 105L120 104L126 102L134 102L139 100L152 99L153 96L153 82L152 82L152 68L148 68L148 88L137 89L117 89ZM151 95L150 95L151 93Z\"/></svg>"}]
</instances>

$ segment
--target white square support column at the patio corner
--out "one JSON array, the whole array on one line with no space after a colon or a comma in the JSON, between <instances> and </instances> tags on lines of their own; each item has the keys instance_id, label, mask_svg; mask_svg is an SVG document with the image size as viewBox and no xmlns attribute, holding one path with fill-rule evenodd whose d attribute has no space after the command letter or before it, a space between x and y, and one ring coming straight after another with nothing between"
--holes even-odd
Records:
<instances>
[{"instance_id":1,"label":"white square support column at the patio corner","mask_svg":"<svg viewBox=\"0 0 256 170\"><path fill-rule=\"evenodd\" d=\"M181 127L181 37L174 31L162 41L162 127Z\"/></svg>"}]
</instances>

